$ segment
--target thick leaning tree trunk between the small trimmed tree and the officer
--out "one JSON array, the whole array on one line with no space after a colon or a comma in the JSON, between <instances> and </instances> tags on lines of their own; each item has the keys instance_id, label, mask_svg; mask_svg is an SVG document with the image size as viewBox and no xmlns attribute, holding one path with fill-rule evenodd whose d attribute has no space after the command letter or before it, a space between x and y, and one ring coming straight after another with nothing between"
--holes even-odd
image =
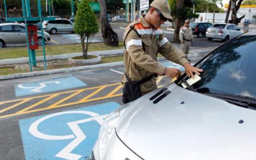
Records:
<instances>
[{"instance_id":1,"label":"thick leaning tree trunk between the small trimmed tree and the officer","mask_svg":"<svg viewBox=\"0 0 256 160\"><path fill-rule=\"evenodd\" d=\"M113 31L106 17L106 2L105 0L98 1L100 3L100 27L102 32L102 38L106 45L116 47L118 46L118 35L115 33L115 31Z\"/></svg>"}]
</instances>

